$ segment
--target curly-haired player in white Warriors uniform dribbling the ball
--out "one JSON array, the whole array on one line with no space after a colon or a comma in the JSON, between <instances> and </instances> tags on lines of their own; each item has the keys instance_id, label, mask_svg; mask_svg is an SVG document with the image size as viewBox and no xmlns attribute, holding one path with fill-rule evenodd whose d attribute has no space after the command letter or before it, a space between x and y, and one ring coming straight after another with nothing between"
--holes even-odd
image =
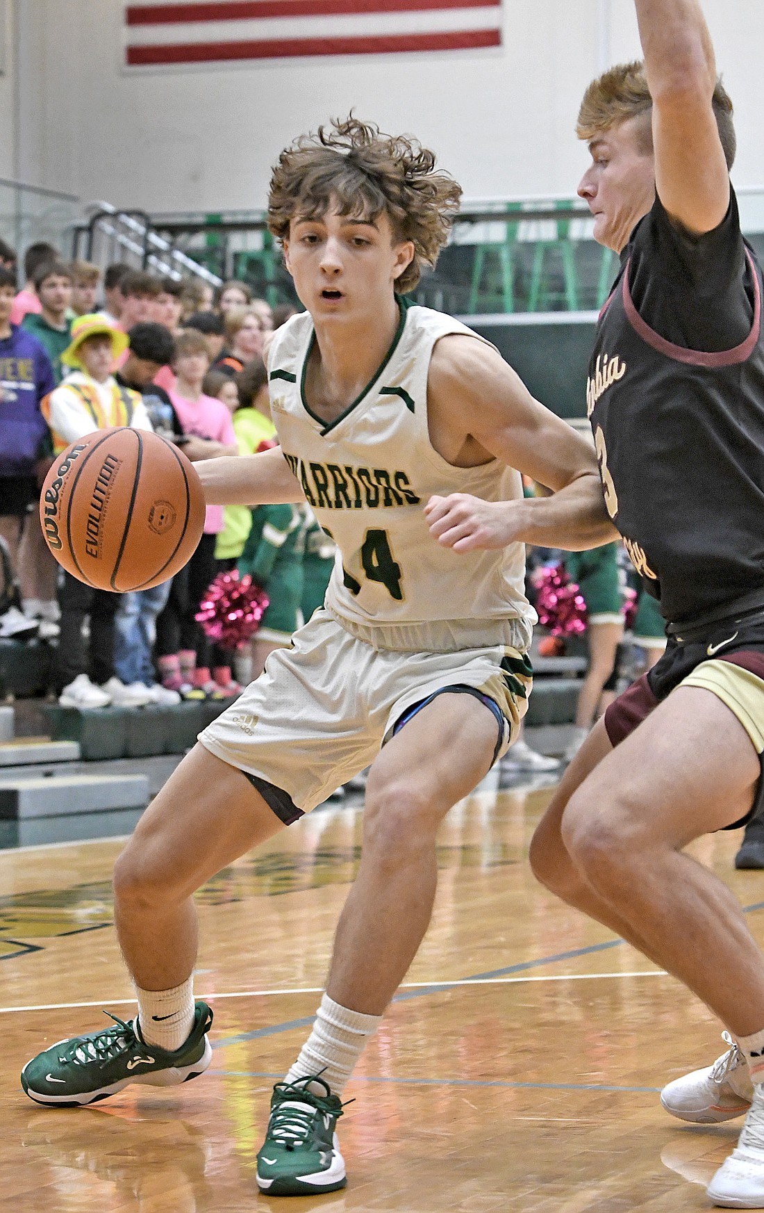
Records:
<instances>
[{"instance_id":1,"label":"curly-haired player in white Warriors uniform dribbling the ball","mask_svg":"<svg viewBox=\"0 0 764 1213\"><path fill-rule=\"evenodd\" d=\"M200 473L210 502L308 501L338 545L326 605L205 729L118 860L138 1015L22 1075L39 1103L87 1104L201 1074L211 1013L192 991L192 893L371 764L326 993L258 1155L272 1195L346 1184L343 1087L427 929L438 826L525 712L524 545L614 537L591 445L492 346L406 304L458 197L432 153L354 119L281 153L269 224L307 308L269 351L281 445ZM524 501L520 471L553 495Z\"/></svg>"}]
</instances>

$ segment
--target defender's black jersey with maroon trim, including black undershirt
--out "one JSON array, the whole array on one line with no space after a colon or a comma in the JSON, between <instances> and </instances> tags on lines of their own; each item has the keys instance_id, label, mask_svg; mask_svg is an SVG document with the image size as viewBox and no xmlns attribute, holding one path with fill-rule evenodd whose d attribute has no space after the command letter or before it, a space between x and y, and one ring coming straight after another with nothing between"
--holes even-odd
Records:
<instances>
[{"instance_id":1,"label":"defender's black jersey with maroon trim, including black undershirt","mask_svg":"<svg viewBox=\"0 0 764 1213\"><path fill-rule=\"evenodd\" d=\"M608 511L680 623L764 591L764 283L734 195L724 239L709 235L682 234L656 200L600 313L587 381ZM690 347L694 332L706 348ZM719 348L730 335L741 340Z\"/></svg>"}]
</instances>

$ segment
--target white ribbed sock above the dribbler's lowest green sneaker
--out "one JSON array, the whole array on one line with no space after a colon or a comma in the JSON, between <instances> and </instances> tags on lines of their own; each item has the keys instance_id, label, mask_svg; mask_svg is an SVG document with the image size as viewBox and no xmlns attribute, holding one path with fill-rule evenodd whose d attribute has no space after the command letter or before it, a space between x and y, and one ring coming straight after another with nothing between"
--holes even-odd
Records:
<instances>
[{"instance_id":1,"label":"white ribbed sock above the dribbler's lowest green sneaker","mask_svg":"<svg viewBox=\"0 0 764 1213\"><path fill-rule=\"evenodd\" d=\"M371 1040L381 1023L382 1015L348 1010L325 993L315 1013L313 1031L284 1081L295 1082L307 1075L319 1075L332 1095L342 1095L366 1041ZM317 1095L324 1093L315 1083L310 1084L310 1089Z\"/></svg>"}]
</instances>

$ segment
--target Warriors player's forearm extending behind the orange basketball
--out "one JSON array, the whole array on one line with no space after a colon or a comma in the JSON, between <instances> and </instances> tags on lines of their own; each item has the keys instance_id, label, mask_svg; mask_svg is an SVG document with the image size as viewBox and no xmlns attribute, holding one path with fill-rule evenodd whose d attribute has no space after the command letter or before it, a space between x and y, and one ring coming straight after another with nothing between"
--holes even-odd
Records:
<instances>
[{"instance_id":1,"label":"Warriors player's forearm extending behind the orange basketball","mask_svg":"<svg viewBox=\"0 0 764 1213\"><path fill-rule=\"evenodd\" d=\"M306 500L280 446L260 455L207 459L194 466L210 506L298 505Z\"/></svg>"}]
</instances>

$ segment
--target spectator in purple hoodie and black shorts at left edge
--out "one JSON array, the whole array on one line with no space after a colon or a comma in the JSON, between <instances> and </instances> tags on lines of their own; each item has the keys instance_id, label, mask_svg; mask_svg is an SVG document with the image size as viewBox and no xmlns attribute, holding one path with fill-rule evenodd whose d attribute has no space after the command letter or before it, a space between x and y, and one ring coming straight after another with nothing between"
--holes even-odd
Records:
<instances>
[{"instance_id":1,"label":"spectator in purple hoodie and black shorts at left edge","mask_svg":"<svg viewBox=\"0 0 764 1213\"><path fill-rule=\"evenodd\" d=\"M49 454L40 403L56 381L38 338L11 324L15 295L13 274L0 267L0 536L16 569L24 531L36 525L36 518L27 517L39 494L40 461ZM11 634L7 626L2 634Z\"/></svg>"}]
</instances>

